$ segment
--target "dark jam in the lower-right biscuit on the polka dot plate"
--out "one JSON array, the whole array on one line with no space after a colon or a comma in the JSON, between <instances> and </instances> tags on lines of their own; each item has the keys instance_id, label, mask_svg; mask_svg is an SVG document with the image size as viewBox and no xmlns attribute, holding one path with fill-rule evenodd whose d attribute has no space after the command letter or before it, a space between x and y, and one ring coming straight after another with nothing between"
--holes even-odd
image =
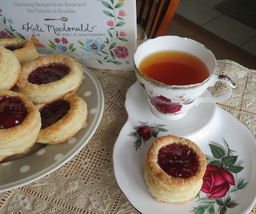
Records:
<instances>
[{"instance_id":1,"label":"dark jam in the lower-right biscuit on the polka dot plate","mask_svg":"<svg viewBox=\"0 0 256 214\"><path fill-rule=\"evenodd\" d=\"M45 129L62 119L62 117L68 113L69 109L70 103L64 99L57 99L47 103L42 109L40 109L42 122L41 129Z\"/></svg>"}]
</instances>

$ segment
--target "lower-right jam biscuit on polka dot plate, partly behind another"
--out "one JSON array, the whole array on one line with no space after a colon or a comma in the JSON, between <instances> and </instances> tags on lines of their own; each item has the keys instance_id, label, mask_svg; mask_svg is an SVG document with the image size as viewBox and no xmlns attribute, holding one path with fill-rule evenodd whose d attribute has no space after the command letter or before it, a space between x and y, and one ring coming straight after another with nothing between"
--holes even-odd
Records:
<instances>
[{"instance_id":1,"label":"lower-right jam biscuit on polka dot plate, partly behind another","mask_svg":"<svg viewBox=\"0 0 256 214\"><path fill-rule=\"evenodd\" d=\"M42 144L56 144L70 139L82 128L88 115L86 102L71 92L36 107L42 121L36 142Z\"/></svg>"}]
</instances>

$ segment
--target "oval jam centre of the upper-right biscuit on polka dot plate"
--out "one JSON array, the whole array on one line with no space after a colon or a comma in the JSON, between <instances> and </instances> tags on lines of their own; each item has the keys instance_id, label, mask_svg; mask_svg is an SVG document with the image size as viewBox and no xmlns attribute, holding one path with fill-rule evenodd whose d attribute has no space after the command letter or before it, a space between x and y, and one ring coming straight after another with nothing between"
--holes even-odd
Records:
<instances>
[{"instance_id":1,"label":"oval jam centre of the upper-right biscuit on polka dot plate","mask_svg":"<svg viewBox=\"0 0 256 214\"><path fill-rule=\"evenodd\" d=\"M28 81L33 84L41 85L58 81L68 75L70 67L61 63L50 63L36 68L28 75Z\"/></svg>"}]
</instances>

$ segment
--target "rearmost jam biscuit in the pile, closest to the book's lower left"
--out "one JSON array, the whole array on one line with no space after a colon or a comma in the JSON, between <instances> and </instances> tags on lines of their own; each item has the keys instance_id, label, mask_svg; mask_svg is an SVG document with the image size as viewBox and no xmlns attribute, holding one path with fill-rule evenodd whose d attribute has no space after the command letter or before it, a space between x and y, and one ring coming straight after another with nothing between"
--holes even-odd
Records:
<instances>
[{"instance_id":1,"label":"rearmost jam biscuit in the pile, closest to the book's lower left","mask_svg":"<svg viewBox=\"0 0 256 214\"><path fill-rule=\"evenodd\" d=\"M31 60L39 57L33 42L29 40L2 38L0 39L0 45L4 46L8 50L11 50L21 65L25 65Z\"/></svg>"}]
</instances>

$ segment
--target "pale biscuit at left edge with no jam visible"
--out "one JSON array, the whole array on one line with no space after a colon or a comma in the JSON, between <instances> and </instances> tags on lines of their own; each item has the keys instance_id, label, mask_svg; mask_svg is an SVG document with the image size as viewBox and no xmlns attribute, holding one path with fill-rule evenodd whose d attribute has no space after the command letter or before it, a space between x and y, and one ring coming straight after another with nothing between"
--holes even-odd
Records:
<instances>
[{"instance_id":1,"label":"pale biscuit at left edge with no jam visible","mask_svg":"<svg viewBox=\"0 0 256 214\"><path fill-rule=\"evenodd\" d=\"M8 49L0 46L0 90L9 90L20 76L20 63Z\"/></svg>"}]
</instances>

